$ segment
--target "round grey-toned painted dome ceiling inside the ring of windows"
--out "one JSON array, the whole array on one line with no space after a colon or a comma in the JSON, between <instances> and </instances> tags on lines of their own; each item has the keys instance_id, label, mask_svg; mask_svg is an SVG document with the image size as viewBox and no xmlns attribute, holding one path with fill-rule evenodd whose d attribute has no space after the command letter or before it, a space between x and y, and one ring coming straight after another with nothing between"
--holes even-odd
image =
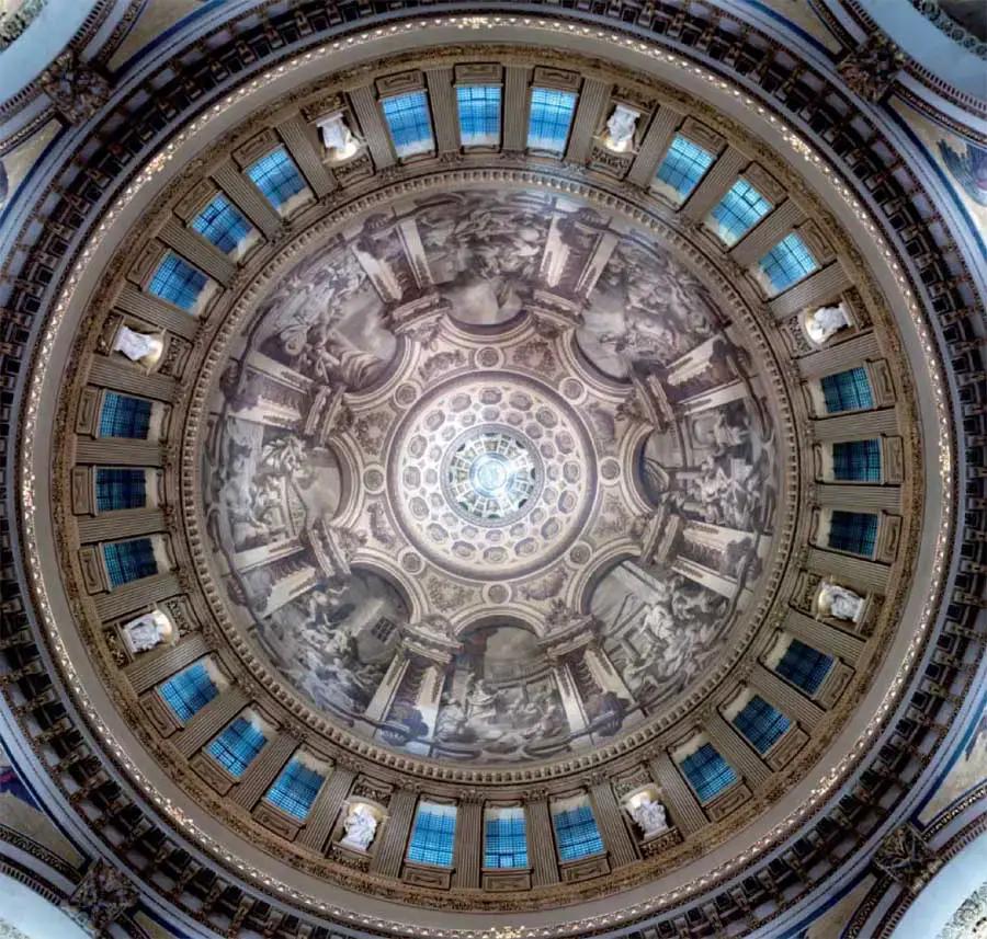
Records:
<instances>
[{"instance_id":1,"label":"round grey-toned painted dome ceiling inside the ring of windows","mask_svg":"<svg viewBox=\"0 0 987 939\"><path fill-rule=\"evenodd\" d=\"M203 499L234 617L361 736L479 763L597 745L725 650L771 552L740 328L570 198L394 205L234 343Z\"/></svg>"}]
</instances>

